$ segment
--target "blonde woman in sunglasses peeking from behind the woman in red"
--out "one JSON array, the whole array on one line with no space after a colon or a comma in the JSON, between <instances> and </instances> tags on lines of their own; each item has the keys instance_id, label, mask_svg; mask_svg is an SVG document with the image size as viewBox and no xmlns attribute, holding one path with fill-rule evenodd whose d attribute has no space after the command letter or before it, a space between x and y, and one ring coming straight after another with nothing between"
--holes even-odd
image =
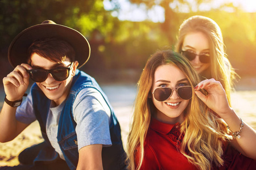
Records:
<instances>
[{"instance_id":1,"label":"blonde woman in sunglasses peeking from behind the woman in red","mask_svg":"<svg viewBox=\"0 0 256 170\"><path fill-rule=\"evenodd\" d=\"M201 80L220 81L230 104L236 73L226 56L221 29L214 20L200 15L186 19L180 25L175 50L189 59Z\"/></svg>"}]
</instances>

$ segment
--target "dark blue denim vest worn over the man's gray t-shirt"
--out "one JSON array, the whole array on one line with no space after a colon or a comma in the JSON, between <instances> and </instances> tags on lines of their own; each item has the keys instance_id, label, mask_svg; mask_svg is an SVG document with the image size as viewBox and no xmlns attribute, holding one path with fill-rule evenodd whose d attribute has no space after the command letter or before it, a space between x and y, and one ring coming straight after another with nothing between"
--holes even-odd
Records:
<instances>
[{"instance_id":1,"label":"dark blue denim vest worn over the man's gray t-shirt","mask_svg":"<svg viewBox=\"0 0 256 170\"><path fill-rule=\"evenodd\" d=\"M104 97L108 104L111 116L110 116L110 137L112 146L102 148L102 163L104 169L125 169L124 160L126 158L125 151L123 150L121 129L117 118L113 112L113 108L109 104L107 97L102 92L97 82L82 71L77 70L76 75L72 80L72 87L69 91L67 100L60 114L60 120L58 125L57 141L63 152L65 161L70 169L76 169L79 160L79 152L77 149L77 134L75 131L76 122L73 118L73 103L77 94L83 88L95 88ZM46 121L49 112L51 100L40 90L37 84L33 84L31 87L32 103L35 111L36 119L39 121L42 136L47 143L46 147L40 150L38 156L35 158L36 162L54 162L59 156L54 148L51 146L46 134Z\"/></svg>"}]
</instances>

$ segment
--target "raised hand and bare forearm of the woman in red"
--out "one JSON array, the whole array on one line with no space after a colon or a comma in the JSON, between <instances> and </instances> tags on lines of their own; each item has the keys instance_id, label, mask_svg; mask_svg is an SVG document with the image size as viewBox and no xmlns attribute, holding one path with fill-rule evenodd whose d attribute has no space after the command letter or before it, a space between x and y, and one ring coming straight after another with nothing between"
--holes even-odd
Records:
<instances>
[{"instance_id":1,"label":"raised hand and bare forearm of the woman in red","mask_svg":"<svg viewBox=\"0 0 256 170\"><path fill-rule=\"evenodd\" d=\"M202 94L199 90L204 88L208 95ZM241 126L240 117L229 107L225 90L220 82L214 79L206 79L197 84L195 93L212 111L218 114L228 124L230 130L239 131ZM243 155L256 159L256 131L244 123L240 138L232 140L232 145Z\"/></svg>"}]
</instances>

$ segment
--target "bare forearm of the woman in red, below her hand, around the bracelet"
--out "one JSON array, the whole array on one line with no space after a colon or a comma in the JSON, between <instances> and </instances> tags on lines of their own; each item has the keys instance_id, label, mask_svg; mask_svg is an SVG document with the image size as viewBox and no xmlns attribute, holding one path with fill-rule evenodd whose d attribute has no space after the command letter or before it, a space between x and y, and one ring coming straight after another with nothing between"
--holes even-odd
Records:
<instances>
[{"instance_id":1,"label":"bare forearm of the woman in red, below her hand, around the bracelet","mask_svg":"<svg viewBox=\"0 0 256 170\"><path fill-rule=\"evenodd\" d=\"M233 109L230 109L228 113L221 117L224 119L226 124L228 124L230 130L233 132L240 130L241 120L240 117L238 117L237 114L233 111ZM256 131L247 125L246 122L243 121L243 124L244 125L240 133L240 138L237 137L236 139L233 139L232 145L243 155L252 159L256 159Z\"/></svg>"}]
</instances>

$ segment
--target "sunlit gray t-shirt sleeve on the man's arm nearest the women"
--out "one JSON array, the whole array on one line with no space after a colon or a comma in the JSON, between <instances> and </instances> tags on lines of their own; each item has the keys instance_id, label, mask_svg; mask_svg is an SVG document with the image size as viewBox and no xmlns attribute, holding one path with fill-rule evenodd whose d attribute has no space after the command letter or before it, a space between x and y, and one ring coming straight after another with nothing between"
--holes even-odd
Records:
<instances>
[{"instance_id":1,"label":"sunlit gray t-shirt sleeve on the man's arm nearest the women","mask_svg":"<svg viewBox=\"0 0 256 170\"><path fill-rule=\"evenodd\" d=\"M85 88L79 92L73 104L73 116L76 121L78 149L94 144L111 146L110 109L104 97L94 88Z\"/></svg>"}]
</instances>

